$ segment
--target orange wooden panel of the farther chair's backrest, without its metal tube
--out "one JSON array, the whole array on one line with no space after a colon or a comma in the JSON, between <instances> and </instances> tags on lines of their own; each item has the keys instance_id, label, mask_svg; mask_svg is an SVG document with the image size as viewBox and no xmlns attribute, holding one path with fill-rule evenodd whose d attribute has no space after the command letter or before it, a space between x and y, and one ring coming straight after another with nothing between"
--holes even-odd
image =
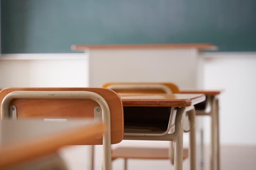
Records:
<instances>
[{"instance_id":1,"label":"orange wooden panel of the farther chair's backrest, without its metal tube","mask_svg":"<svg viewBox=\"0 0 256 170\"><path fill-rule=\"evenodd\" d=\"M167 87L169 87L169 89L172 91L172 93L180 93L180 90L178 88L178 86L176 86L176 84L173 83L165 83L165 82L149 82L149 83L145 83L145 82L110 82L110 83L105 83L103 84L102 87L106 87L109 88L113 85L165 85ZM160 90L160 89L116 89L115 92L117 93L165 93L164 90Z\"/></svg>"}]
</instances>

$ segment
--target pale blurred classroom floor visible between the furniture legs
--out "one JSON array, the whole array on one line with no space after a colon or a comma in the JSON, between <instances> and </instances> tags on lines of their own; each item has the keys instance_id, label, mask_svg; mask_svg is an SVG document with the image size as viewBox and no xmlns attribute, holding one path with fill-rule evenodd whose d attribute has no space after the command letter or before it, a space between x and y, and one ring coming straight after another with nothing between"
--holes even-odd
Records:
<instances>
[{"instance_id":1,"label":"pale blurred classroom floor visible between the furniture legs","mask_svg":"<svg viewBox=\"0 0 256 170\"><path fill-rule=\"evenodd\" d=\"M205 156L209 156L209 147L205 146ZM95 170L101 167L101 146L96 147ZM85 170L86 147L69 146L61 151L70 170ZM256 146L247 145L222 145L221 146L221 170L253 170L256 168ZM173 169L169 160L128 160L128 170L169 170ZM123 160L117 159L112 162L113 170L123 169ZM188 170L188 160L184 161L184 170ZM209 170L209 161L205 157L204 170Z\"/></svg>"}]
</instances>

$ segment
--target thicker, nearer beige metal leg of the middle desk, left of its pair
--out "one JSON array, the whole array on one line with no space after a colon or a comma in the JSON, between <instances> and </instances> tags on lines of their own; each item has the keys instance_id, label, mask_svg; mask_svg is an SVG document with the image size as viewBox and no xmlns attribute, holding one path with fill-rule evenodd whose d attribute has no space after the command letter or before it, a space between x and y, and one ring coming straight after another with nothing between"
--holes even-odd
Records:
<instances>
[{"instance_id":1,"label":"thicker, nearer beige metal leg of the middle desk, left of its pair","mask_svg":"<svg viewBox=\"0 0 256 170\"><path fill-rule=\"evenodd\" d=\"M175 170L182 170L183 168L183 115L185 107L178 108L175 118L175 155L174 167Z\"/></svg>"}]
</instances>

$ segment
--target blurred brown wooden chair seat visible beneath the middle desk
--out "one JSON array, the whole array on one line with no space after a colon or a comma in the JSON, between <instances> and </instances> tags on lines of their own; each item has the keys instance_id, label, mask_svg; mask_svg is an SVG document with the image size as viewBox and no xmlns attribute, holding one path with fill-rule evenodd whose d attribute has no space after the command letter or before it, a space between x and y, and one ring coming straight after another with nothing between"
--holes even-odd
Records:
<instances>
[{"instance_id":1,"label":"blurred brown wooden chair seat visible beneath the middle desk","mask_svg":"<svg viewBox=\"0 0 256 170\"><path fill-rule=\"evenodd\" d=\"M124 159L169 159L168 148L118 147L111 152L111 158ZM183 151L183 160L188 158L188 149Z\"/></svg>"}]
</instances>

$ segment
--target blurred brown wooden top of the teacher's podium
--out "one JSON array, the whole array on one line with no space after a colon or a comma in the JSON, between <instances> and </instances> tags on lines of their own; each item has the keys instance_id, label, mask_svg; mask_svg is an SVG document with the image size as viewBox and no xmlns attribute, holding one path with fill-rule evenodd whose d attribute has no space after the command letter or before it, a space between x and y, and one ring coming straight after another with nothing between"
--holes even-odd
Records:
<instances>
[{"instance_id":1,"label":"blurred brown wooden top of the teacher's podium","mask_svg":"<svg viewBox=\"0 0 256 170\"><path fill-rule=\"evenodd\" d=\"M110 45L72 45L72 50L113 50L113 49L198 49L217 50L218 47L209 43L202 44L110 44Z\"/></svg>"}]
</instances>

